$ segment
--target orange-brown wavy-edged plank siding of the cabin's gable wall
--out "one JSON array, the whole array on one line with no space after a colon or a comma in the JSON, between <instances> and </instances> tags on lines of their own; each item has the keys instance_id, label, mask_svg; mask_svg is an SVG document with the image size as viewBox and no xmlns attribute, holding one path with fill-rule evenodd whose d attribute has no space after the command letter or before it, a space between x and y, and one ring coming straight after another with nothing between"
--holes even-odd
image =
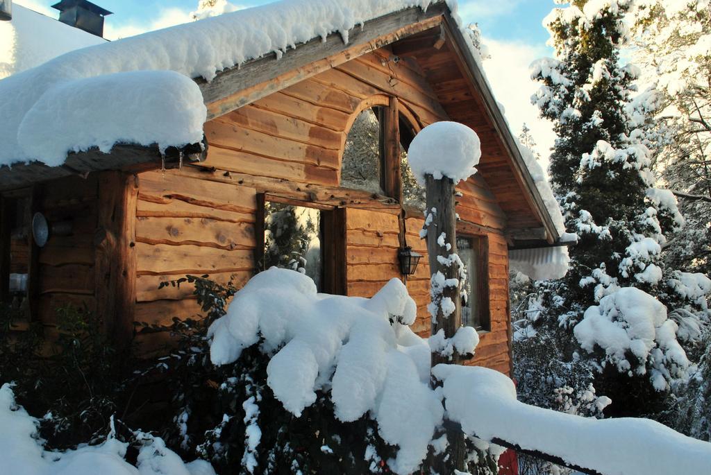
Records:
<instances>
[{"instance_id":1,"label":"orange-brown wavy-edged plank siding of the cabin's gable wall","mask_svg":"<svg viewBox=\"0 0 711 475\"><path fill-rule=\"evenodd\" d=\"M392 61L390 50L344 62L205 124L207 159L183 170L141 173L137 203L137 320L165 324L173 316L199 313L189 286L158 289L185 273L208 273L242 285L255 270L256 194L347 207L346 291L370 297L391 278L402 278L400 205L367 192L339 187L341 156L355 116L367 107L399 109L416 130L448 119L419 66ZM459 187L462 222L489 237L491 332L481 335L474 364L508 373L508 262L506 216L481 176ZM427 252L419 239L420 217L405 219L405 239ZM496 255L494 254L496 253ZM413 329L429 334L429 266L420 261L407 278L417 302ZM153 342L158 339L152 338ZM151 345L149 345L151 346Z\"/></svg>"}]
</instances>

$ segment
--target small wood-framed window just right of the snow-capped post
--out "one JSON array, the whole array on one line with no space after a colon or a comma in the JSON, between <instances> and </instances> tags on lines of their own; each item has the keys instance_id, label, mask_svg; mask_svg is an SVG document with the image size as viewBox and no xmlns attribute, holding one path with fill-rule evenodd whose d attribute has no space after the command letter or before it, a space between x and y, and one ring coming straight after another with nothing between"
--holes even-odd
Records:
<instances>
[{"instance_id":1,"label":"small wood-framed window just right of the snow-capped post","mask_svg":"<svg viewBox=\"0 0 711 475\"><path fill-rule=\"evenodd\" d=\"M456 247L466 271L461 291L461 324L477 330L491 329L486 237L457 236Z\"/></svg>"}]
</instances>

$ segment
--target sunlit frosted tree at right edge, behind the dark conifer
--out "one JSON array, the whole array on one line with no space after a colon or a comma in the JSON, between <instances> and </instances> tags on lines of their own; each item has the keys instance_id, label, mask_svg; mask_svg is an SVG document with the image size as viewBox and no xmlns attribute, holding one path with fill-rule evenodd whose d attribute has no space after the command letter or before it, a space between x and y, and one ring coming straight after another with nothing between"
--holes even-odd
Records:
<instances>
[{"instance_id":1,"label":"sunlit frosted tree at right edge, behind the dark conifer","mask_svg":"<svg viewBox=\"0 0 711 475\"><path fill-rule=\"evenodd\" d=\"M711 272L711 2L640 0L634 59L658 97L654 131L668 136L656 168L680 198L686 223L664 261Z\"/></svg>"}]
</instances>

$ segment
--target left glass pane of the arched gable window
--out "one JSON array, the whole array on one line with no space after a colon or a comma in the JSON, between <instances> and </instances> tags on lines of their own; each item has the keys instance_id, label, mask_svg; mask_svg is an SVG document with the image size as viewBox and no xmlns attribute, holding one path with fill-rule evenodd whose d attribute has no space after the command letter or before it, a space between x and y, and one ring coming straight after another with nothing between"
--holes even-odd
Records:
<instances>
[{"instance_id":1,"label":"left glass pane of the arched gable window","mask_svg":"<svg viewBox=\"0 0 711 475\"><path fill-rule=\"evenodd\" d=\"M355 118L346 137L341 186L385 195L380 180L380 122L374 109Z\"/></svg>"}]
</instances>

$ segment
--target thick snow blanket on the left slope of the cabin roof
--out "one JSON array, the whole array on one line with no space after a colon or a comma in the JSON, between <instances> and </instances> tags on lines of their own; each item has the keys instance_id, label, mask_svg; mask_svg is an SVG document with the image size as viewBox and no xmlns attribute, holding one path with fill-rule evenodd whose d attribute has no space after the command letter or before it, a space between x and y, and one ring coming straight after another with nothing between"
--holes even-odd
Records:
<instances>
[{"instance_id":1,"label":"thick snow blanket on the left slope of the cabin roof","mask_svg":"<svg viewBox=\"0 0 711 475\"><path fill-rule=\"evenodd\" d=\"M188 78L204 77L212 80L217 72L225 68L269 53L277 53L278 58L288 48L313 38L326 38L329 33L341 33L347 41L348 31L365 21L411 6L424 9L430 3L429 0L282 0L72 51L0 82L0 116L4 118L3 127L0 128L0 142L3 143L0 165L30 160L49 160L49 163L55 164L61 160L58 151L60 146L32 146L30 138L33 136L44 136L43 143L46 144L52 141L70 142L65 153L83 150L90 145L107 148L109 143L120 141L147 145L146 138L152 138L161 148L198 142L203 131L197 124L200 119L204 121L206 116L202 101L198 104L198 86L193 84L188 87L187 82L177 80L161 83L159 87L175 88L177 85L178 89L173 94L187 93L191 100L183 102L186 107L183 114L188 114L189 120L183 121L183 124L171 124L173 126L169 128L160 124L161 121L151 120L156 116L171 120L173 108L159 102L149 104L152 105L151 110L145 107L141 111L141 115L146 116L131 116L142 124L152 123L152 126L144 128L136 136L135 128L129 127L127 130L129 114L124 113L124 110L139 111L141 101L146 97L144 87L150 87L148 82L154 80L155 76L142 78L144 85L134 87L133 92L136 94L126 94L120 102L108 105L97 102L83 104L87 110L112 111L111 119L101 121L98 127L100 130L85 130L85 138L92 136L95 139L93 144L73 141L74 137L62 140L60 133L55 131L55 121L50 120L70 112L68 109L72 107L71 101L62 99L63 94L68 91L77 92L80 86L91 87L92 92L97 93L100 84L94 81L100 81L101 77L119 72L164 70ZM456 12L454 2L451 2L450 8L453 13ZM123 78L112 77L111 80L105 80L103 86L116 84ZM137 80L139 76L134 75L132 78ZM108 92L108 89L104 90ZM36 107L47 107L48 104L55 109L44 111L43 114L35 113ZM36 120L38 115L46 120ZM31 124L26 124L28 116L34 119ZM73 124L68 126L69 129L77 127ZM164 135L166 129L171 130L170 136Z\"/></svg>"}]
</instances>

